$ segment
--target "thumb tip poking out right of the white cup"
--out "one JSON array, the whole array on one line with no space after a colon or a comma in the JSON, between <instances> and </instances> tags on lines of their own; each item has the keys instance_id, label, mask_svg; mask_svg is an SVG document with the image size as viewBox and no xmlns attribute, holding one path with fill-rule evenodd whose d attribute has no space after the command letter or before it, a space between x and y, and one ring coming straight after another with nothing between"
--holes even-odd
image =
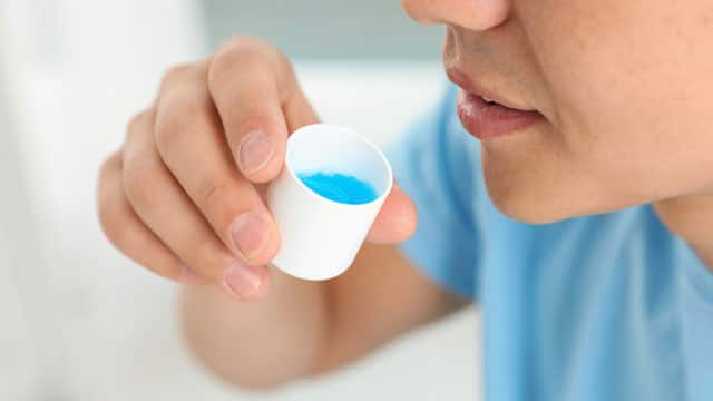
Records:
<instances>
[{"instance_id":1,"label":"thumb tip poking out right of the white cup","mask_svg":"<svg viewBox=\"0 0 713 401\"><path fill-rule=\"evenodd\" d=\"M413 202L394 183L367 239L377 244L404 242L413 235L417 221L418 215Z\"/></svg>"}]
</instances>

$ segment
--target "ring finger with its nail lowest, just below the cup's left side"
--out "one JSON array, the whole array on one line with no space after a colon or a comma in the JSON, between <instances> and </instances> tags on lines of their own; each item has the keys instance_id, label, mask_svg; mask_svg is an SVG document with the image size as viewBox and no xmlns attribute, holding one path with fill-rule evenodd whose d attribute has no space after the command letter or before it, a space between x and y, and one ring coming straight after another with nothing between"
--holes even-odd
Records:
<instances>
[{"instance_id":1,"label":"ring finger with its nail lowest, just below the cup's left side","mask_svg":"<svg viewBox=\"0 0 713 401\"><path fill-rule=\"evenodd\" d=\"M154 118L130 124L123 151L124 193L141 222L193 272L242 300L262 293L264 267L236 258L162 162L154 143Z\"/></svg>"}]
</instances>

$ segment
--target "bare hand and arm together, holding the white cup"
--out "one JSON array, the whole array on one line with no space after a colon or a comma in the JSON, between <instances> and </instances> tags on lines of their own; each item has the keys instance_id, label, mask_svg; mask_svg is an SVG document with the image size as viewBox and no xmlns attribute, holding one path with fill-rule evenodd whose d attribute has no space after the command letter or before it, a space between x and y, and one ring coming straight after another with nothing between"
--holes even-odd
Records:
<instances>
[{"instance_id":1,"label":"bare hand and arm together, holding the white cup","mask_svg":"<svg viewBox=\"0 0 713 401\"><path fill-rule=\"evenodd\" d=\"M242 387L328 372L466 304L389 245L416 228L413 204L398 185L346 274L312 283L265 266L280 235L264 183L282 168L287 133L315 121L284 56L235 37L205 60L172 68L101 168L108 238L185 284L192 350ZM251 144L256 131L272 146ZM240 227L246 236L235 233Z\"/></svg>"}]
</instances>

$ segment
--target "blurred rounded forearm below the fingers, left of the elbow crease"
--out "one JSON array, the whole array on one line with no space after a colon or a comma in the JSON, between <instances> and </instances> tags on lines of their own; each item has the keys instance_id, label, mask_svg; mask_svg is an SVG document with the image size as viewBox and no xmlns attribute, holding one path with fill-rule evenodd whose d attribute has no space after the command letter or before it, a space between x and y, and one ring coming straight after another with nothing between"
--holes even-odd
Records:
<instances>
[{"instance_id":1,"label":"blurred rounded forearm below the fingers, left of the elbow crease","mask_svg":"<svg viewBox=\"0 0 713 401\"><path fill-rule=\"evenodd\" d=\"M270 388L315 369L325 333L324 284L272 270L270 294L240 303L213 287L184 290L182 314L193 352L218 376Z\"/></svg>"}]
</instances>

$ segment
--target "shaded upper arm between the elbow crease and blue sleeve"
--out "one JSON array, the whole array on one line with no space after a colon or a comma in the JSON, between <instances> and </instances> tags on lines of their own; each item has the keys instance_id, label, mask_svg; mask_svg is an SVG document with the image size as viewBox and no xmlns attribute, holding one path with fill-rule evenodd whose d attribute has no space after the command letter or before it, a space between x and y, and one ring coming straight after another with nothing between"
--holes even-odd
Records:
<instances>
[{"instance_id":1,"label":"shaded upper arm between the elbow crease and blue sleeve","mask_svg":"<svg viewBox=\"0 0 713 401\"><path fill-rule=\"evenodd\" d=\"M326 292L328 334L313 374L340 369L468 304L422 275L395 247L373 244Z\"/></svg>"}]
</instances>

